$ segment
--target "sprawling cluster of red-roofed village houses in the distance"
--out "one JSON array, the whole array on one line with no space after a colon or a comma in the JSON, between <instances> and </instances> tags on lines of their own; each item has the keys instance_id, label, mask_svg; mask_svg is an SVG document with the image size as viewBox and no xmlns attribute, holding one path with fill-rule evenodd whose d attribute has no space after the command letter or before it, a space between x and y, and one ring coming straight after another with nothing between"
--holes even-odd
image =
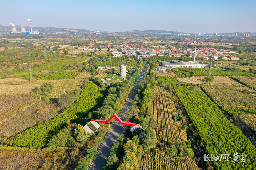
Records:
<instances>
[{"instance_id":1,"label":"sprawling cluster of red-roofed village houses in the distance","mask_svg":"<svg viewBox=\"0 0 256 170\"><path fill-rule=\"evenodd\" d=\"M172 42L172 41L171 41ZM176 42L176 41L175 41ZM177 43L177 42L176 42ZM181 41L182 43L187 43L187 41ZM205 43L205 42L198 42ZM82 50L94 50L94 46L90 47L78 47ZM117 49L122 49L122 52ZM154 45L154 44L119 44L114 45L112 49L111 46L101 46L101 50L112 51L113 57L120 57L122 55L138 55L139 57L149 57L154 55L169 55L171 57L194 57L195 49L178 49L171 45ZM198 48L196 49L196 56L201 57L202 60L209 60L210 58L220 59L220 60L239 60L240 58L234 57L232 54L235 52L217 49L217 48Z\"/></svg>"}]
</instances>

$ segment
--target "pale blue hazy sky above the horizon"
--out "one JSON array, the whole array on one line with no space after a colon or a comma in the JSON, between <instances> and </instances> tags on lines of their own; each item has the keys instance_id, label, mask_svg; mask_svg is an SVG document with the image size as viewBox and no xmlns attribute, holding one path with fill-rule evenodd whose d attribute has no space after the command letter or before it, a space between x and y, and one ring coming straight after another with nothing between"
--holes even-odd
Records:
<instances>
[{"instance_id":1,"label":"pale blue hazy sky above the horizon","mask_svg":"<svg viewBox=\"0 0 256 170\"><path fill-rule=\"evenodd\" d=\"M9 0L0 24L124 32L256 32L256 0Z\"/></svg>"}]
</instances>

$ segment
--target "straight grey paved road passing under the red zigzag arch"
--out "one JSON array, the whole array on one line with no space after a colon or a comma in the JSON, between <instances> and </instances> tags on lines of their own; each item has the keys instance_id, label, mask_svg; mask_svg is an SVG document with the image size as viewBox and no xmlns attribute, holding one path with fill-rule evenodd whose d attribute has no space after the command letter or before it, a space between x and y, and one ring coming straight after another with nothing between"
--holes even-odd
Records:
<instances>
[{"instance_id":1,"label":"straight grey paved road passing under the red zigzag arch","mask_svg":"<svg viewBox=\"0 0 256 170\"><path fill-rule=\"evenodd\" d=\"M129 111L129 108L132 106L134 97L139 89L140 81L142 80L147 67L148 64L146 64L146 66L142 69L142 73L139 74L132 92L130 93L126 103L124 104L121 112L118 115L123 121L126 120L127 111ZM98 151L96 158L93 160L91 166L89 167L89 170L103 170L103 166L105 166L107 163L107 157L109 156L110 148L113 146L113 143L116 142L119 134L123 134L124 130L124 125L119 124L118 121L114 122L110 132L108 133L105 141L103 142L100 150Z\"/></svg>"}]
</instances>

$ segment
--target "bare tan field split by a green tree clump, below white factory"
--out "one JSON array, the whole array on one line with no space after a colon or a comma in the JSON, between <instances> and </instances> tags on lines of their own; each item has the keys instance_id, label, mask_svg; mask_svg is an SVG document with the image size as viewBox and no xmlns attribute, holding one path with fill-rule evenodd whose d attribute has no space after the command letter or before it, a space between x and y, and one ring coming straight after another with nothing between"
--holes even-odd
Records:
<instances>
[{"instance_id":1,"label":"bare tan field split by a green tree clump, below white factory","mask_svg":"<svg viewBox=\"0 0 256 170\"><path fill-rule=\"evenodd\" d=\"M203 84L202 81L205 76L193 76L193 77L177 77L178 81L194 84ZM229 77L214 76L213 82L210 84L225 84L225 85L240 85L236 81L230 79Z\"/></svg>"}]
</instances>

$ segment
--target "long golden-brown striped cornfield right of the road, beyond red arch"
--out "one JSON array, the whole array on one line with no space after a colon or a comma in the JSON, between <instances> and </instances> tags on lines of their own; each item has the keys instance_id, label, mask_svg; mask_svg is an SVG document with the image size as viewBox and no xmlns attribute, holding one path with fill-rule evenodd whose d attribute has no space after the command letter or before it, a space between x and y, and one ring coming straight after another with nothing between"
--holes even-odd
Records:
<instances>
[{"instance_id":1,"label":"long golden-brown striped cornfield right of the road, beyond red arch","mask_svg":"<svg viewBox=\"0 0 256 170\"><path fill-rule=\"evenodd\" d=\"M164 144L187 141L186 130L181 129L179 121L174 121L176 108L171 95L164 87L154 90L153 111L156 120L156 134Z\"/></svg>"}]
</instances>

